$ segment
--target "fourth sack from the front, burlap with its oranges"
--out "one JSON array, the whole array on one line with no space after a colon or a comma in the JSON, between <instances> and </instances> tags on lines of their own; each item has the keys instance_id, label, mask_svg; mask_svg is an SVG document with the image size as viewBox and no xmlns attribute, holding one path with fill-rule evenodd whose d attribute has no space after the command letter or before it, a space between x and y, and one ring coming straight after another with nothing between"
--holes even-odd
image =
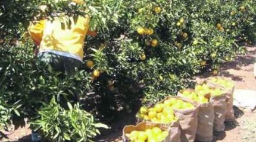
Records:
<instances>
[{"instance_id":1,"label":"fourth sack from the front, burlap with its oranges","mask_svg":"<svg viewBox=\"0 0 256 142\"><path fill-rule=\"evenodd\" d=\"M192 99L198 102L198 127L196 130L196 141L213 141L214 108L213 100L207 95L198 95L194 89L183 89L177 96Z\"/></svg>"}]
</instances>

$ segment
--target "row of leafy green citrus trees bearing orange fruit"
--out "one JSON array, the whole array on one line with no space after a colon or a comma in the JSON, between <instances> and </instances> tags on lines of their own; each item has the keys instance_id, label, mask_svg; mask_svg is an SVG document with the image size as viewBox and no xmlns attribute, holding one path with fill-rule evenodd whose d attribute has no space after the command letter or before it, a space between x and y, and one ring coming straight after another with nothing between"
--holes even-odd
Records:
<instances>
[{"instance_id":1,"label":"row of leafy green citrus trees bearing orange fruit","mask_svg":"<svg viewBox=\"0 0 256 142\"><path fill-rule=\"evenodd\" d=\"M198 73L216 75L221 63L245 53L243 41L255 40L250 0L3 2L0 126L29 118L48 141L93 140L105 127L93 115L104 121L120 110L130 113L135 102L155 103L193 85L189 80ZM40 4L51 8L42 13ZM22 25L51 12L84 14L83 8L99 34L86 39L83 69L65 76L37 62Z\"/></svg>"}]
</instances>

